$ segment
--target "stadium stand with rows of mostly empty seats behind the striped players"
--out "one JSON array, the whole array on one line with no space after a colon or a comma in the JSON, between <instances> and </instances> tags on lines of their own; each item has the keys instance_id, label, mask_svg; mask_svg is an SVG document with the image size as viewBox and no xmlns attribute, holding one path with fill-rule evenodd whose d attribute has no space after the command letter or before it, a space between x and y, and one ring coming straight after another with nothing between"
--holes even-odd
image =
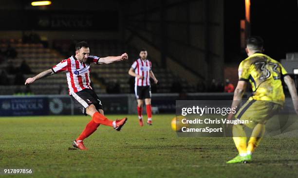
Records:
<instances>
[{"instance_id":1,"label":"stadium stand with rows of mostly empty seats behind the striped players","mask_svg":"<svg viewBox=\"0 0 298 178\"><path fill-rule=\"evenodd\" d=\"M133 88L131 88L130 85L133 84L133 79L130 79L127 72L132 62L138 58L138 50L113 40L88 40L88 43L90 45L91 55L108 56L118 55L124 52L130 55L128 62L117 62L104 65L103 67L92 68L92 86L95 91L97 93L131 93ZM31 77L33 73L47 70L59 63L62 59L72 55L74 52L73 44L71 40L55 40L53 49L51 49L43 47L41 43L22 43L21 39L1 40L0 47L2 49L11 46L15 48L18 55L14 59L6 58L5 61L2 61L0 64L0 71L7 71L7 69L13 70L13 72L7 74L9 84L0 86L0 94L15 94L26 90L34 94L66 94L67 84L64 74L57 74L39 80L36 82L36 85L30 86L30 88L14 84L16 79L22 81L27 77ZM169 70L158 67L156 63L154 63L154 59L151 60L153 65L152 70L159 80L157 86L152 86L153 92L195 91L194 86L188 85L185 79L174 76ZM22 62L28 64L32 74L19 73L19 71L23 71L19 70Z\"/></svg>"}]
</instances>

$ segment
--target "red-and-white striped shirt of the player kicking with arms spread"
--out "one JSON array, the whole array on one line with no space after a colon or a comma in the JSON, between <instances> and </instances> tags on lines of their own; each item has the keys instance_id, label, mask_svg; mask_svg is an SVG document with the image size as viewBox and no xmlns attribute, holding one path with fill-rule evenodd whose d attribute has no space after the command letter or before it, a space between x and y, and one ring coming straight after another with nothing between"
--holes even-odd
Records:
<instances>
[{"instance_id":1,"label":"red-and-white striped shirt of the player kicking with arms spread","mask_svg":"<svg viewBox=\"0 0 298 178\"><path fill-rule=\"evenodd\" d=\"M52 71L54 73L66 71L69 94L71 95L83 89L92 89L90 86L90 64L99 64L98 61L99 57L89 56L85 63L81 63L75 56L71 56L53 66Z\"/></svg>"}]
</instances>

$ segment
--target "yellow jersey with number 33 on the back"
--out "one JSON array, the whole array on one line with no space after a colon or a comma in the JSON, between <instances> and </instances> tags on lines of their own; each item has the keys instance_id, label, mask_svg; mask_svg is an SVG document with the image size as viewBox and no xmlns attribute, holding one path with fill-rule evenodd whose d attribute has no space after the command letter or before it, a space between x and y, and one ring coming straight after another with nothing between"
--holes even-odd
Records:
<instances>
[{"instance_id":1,"label":"yellow jersey with number 33 on the back","mask_svg":"<svg viewBox=\"0 0 298 178\"><path fill-rule=\"evenodd\" d=\"M284 104L281 79L287 71L271 57L254 53L244 59L238 69L239 80L249 81L253 95L249 100L264 100Z\"/></svg>"}]
</instances>

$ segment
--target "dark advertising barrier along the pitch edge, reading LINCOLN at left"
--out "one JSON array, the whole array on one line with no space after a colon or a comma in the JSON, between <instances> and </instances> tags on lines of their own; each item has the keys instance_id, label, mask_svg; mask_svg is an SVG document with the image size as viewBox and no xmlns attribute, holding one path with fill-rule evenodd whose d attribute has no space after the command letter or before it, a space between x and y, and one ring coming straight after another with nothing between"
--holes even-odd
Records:
<instances>
[{"instance_id":1,"label":"dark advertising barrier along the pitch edge, reading LINCOLN at left","mask_svg":"<svg viewBox=\"0 0 298 178\"><path fill-rule=\"evenodd\" d=\"M134 94L100 94L106 114L135 114ZM155 93L152 94L153 112L175 113L176 100L232 100L232 93ZM292 106L291 99L286 105ZM67 95L0 96L0 116L78 115Z\"/></svg>"}]
</instances>

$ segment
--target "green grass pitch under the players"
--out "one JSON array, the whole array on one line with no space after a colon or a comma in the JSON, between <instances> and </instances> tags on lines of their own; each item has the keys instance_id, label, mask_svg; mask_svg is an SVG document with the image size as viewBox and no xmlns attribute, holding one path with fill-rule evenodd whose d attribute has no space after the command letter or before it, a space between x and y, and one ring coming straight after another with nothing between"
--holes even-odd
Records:
<instances>
[{"instance_id":1,"label":"green grass pitch under the players","mask_svg":"<svg viewBox=\"0 0 298 178\"><path fill-rule=\"evenodd\" d=\"M228 165L237 154L231 138L178 138L173 117L154 115L152 126L140 127L129 115L120 132L100 125L85 140L88 151L69 147L90 117L1 117L0 167L33 168L37 178L298 177L298 138L264 138L253 162Z\"/></svg>"}]
</instances>

